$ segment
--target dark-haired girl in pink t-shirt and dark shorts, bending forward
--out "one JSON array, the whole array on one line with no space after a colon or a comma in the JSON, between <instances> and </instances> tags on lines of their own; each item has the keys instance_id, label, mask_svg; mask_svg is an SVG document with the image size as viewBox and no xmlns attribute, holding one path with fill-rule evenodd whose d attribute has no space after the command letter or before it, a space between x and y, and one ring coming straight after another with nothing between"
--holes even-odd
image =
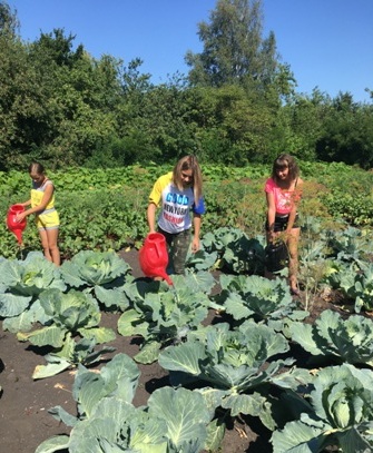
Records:
<instances>
[{"instance_id":1,"label":"dark-haired girl in pink t-shirt and dark shorts, bending forward","mask_svg":"<svg viewBox=\"0 0 373 453\"><path fill-rule=\"evenodd\" d=\"M279 235L288 248L288 279L293 295L298 295L298 240L301 228L297 225L297 205L302 197L303 180L294 157L279 155L272 169L272 176L265 184L267 200L266 233L267 243L273 243Z\"/></svg>"}]
</instances>

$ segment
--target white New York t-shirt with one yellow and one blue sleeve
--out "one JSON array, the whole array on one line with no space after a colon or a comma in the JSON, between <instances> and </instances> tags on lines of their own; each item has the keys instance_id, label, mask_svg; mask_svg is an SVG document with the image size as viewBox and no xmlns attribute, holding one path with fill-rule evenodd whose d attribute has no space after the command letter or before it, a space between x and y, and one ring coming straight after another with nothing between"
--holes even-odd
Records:
<instances>
[{"instance_id":1,"label":"white New York t-shirt with one yellow and one blue sleeve","mask_svg":"<svg viewBox=\"0 0 373 453\"><path fill-rule=\"evenodd\" d=\"M204 214L204 199L195 204L192 187L179 190L173 183L173 173L160 176L153 187L149 203L160 206L158 226L167 233L180 233L192 227L190 210ZM161 204L161 205L160 205Z\"/></svg>"}]
</instances>

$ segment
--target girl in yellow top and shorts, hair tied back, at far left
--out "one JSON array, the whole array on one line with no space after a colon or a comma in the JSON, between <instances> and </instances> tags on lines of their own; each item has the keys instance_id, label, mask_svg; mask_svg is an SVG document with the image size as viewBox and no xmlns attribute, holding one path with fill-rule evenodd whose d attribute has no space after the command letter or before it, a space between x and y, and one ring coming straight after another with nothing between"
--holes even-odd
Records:
<instances>
[{"instance_id":1,"label":"girl in yellow top and shorts, hair tied back, at far left","mask_svg":"<svg viewBox=\"0 0 373 453\"><path fill-rule=\"evenodd\" d=\"M31 208L17 215L17 220L22 221L26 216L36 214L37 227L39 229L41 245L46 258L60 265L60 252L57 245L59 232L59 216L55 208L55 186L47 178L45 168L39 163L31 163L29 174L32 179L31 198L20 203L21 206Z\"/></svg>"}]
</instances>

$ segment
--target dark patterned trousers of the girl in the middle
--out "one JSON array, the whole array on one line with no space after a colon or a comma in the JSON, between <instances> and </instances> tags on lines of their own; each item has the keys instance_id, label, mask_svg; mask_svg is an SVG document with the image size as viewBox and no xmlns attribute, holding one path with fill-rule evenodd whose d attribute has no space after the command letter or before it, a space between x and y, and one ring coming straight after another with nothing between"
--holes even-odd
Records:
<instances>
[{"instance_id":1,"label":"dark patterned trousers of the girl in the middle","mask_svg":"<svg viewBox=\"0 0 373 453\"><path fill-rule=\"evenodd\" d=\"M184 274L185 262L190 245L190 229L173 234L164 232L161 228L158 227L158 232L165 236L167 243L168 248L167 273Z\"/></svg>"}]
</instances>

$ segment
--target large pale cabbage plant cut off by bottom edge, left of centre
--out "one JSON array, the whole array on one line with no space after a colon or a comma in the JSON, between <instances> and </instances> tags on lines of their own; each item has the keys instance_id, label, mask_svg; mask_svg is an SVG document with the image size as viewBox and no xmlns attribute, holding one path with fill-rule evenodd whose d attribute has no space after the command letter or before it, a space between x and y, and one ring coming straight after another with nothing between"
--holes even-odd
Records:
<instances>
[{"instance_id":1,"label":"large pale cabbage plant cut off by bottom edge, left of centre","mask_svg":"<svg viewBox=\"0 0 373 453\"><path fill-rule=\"evenodd\" d=\"M185 388L156 390L146 407L131 404L139 371L126 354L116 355L100 374L79 366L73 384L78 416L62 407L50 412L72 426L70 436L45 441L36 453L68 449L151 453L200 452L207 440L210 413L200 394Z\"/></svg>"}]
</instances>

